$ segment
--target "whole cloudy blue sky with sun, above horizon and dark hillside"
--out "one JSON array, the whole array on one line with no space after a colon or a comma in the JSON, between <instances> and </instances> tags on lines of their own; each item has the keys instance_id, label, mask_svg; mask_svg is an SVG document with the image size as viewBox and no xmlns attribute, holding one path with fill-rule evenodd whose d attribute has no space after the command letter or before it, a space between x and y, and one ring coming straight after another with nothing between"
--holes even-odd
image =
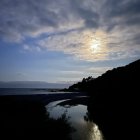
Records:
<instances>
[{"instance_id":1,"label":"whole cloudy blue sky with sun, above horizon and dark hillside","mask_svg":"<svg viewBox=\"0 0 140 140\"><path fill-rule=\"evenodd\" d=\"M140 58L140 0L0 0L0 81L65 83Z\"/></svg>"}]
</instances>

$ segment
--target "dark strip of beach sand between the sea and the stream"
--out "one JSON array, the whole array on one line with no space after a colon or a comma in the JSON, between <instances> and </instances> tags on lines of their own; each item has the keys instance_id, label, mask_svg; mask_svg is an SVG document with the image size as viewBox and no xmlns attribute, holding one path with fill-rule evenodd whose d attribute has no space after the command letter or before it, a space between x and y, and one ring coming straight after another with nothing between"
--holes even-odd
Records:
<instances>
[{"instance_id":1,"label":"dark strip of beach sand between the sea and the stream","mask_svg":"<svg viewBox=\"0 0 140 140\"><path fill-rule=\"evenodd\" d=\"M74 99L75 97L86 96L85 93L54 93L54 94L35 94L35 95L2 95L0 104L8 102L35 101L47 105L50 102L64 99Z\"/></svg>"}]
</instances>

